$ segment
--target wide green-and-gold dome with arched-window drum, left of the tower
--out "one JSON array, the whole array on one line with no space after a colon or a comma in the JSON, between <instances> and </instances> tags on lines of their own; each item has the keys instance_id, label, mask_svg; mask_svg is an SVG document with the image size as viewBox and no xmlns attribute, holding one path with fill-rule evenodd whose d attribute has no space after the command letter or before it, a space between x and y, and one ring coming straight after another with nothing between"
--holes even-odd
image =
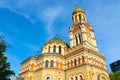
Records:
<instances>
[{"instance_id":1,"label":"wide green-and-gold dome with arched-window drum, left of the tower","mask_svg":"<svg viewBox=\"0 0 120 80\"><path fill-rule=\"evenodd\" d=\"M42 48L42 54L44 53L58 53L65 55L65 50L68 48L68 44L60 39L58 35L55 38L48 40Z\"/></svg>"}]
</instances>

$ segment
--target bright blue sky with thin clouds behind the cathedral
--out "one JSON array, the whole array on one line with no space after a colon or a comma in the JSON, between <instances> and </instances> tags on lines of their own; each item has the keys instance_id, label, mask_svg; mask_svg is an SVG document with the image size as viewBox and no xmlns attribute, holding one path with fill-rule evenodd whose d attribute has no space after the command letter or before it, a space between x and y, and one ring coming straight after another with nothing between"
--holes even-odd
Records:
<instances>
[{"instance_id":1,"label":"bright blue sky with thin clouds behind the cathedral","mask_svg":"<svg viewBox=\"0 0 120 80\"><path fill-rule=\"evenodd\" d=\"M120 59L120 0L0 0L0 34L9 44L5 55L18 75L21 62L56 34L69 44L69 25L76 4L95 31L106 64Z\"/></svg>"}]
</instances>

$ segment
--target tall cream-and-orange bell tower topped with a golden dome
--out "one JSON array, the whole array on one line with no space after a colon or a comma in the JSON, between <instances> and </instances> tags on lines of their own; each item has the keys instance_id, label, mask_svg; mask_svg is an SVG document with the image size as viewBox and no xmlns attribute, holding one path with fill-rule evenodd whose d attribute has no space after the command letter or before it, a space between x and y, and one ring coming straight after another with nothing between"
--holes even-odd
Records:
<instances>
[{"instance_id":1,"label":"tall cream-and-orange bell tower topped with a golden dome","mask_svg":"<svg viewBox=\"0 0 120 80\"><path fill-rule=\"evenodd\" d=\"M81 45L82 47L98 51L92 26L87 23L86 14L78 5L76 5L76 9L72 13L72 20L73 25L69 27L70 47Z\"/></svg>"}]
</instances>

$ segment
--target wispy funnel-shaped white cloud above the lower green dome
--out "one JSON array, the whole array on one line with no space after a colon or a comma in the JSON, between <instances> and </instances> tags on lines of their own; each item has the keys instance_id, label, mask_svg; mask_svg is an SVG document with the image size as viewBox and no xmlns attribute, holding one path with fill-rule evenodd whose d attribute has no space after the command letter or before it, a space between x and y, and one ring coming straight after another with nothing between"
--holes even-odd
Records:
<instances>
[{"instance_id":1,"label":"wispy funnel-shaped white cloud above the lower green dome","mask_svg":"<svg viewBox=\"0 0 120 80\"><path fill-rule=\"evenodd\" d=\"M62 6L48 7L43 11L42 16L40 16L40 18L42 18L42 20L47 24L46 30L50 37L53 36L53 22L57 19L57 17L60 17L63 11L64 7Z\"/></svg>"}]
</instances>

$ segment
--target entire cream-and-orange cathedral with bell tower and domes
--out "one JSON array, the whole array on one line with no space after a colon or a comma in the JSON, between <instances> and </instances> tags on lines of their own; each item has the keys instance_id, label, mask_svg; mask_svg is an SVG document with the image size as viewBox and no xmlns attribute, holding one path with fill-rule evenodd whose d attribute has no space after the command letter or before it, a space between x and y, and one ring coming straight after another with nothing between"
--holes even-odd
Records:
<instances>
[{"instance_id":1,"label":"entire cream-and-orange cathedral with bell tower and domes","mask_svg":"<svg viewBox=\"0 0 120 80\"><path fill-rule=\"evenodd\" d=\"M41 55L21 62L19 77L13 80L110 80L85 11L76 6L72 20L70 45L56 35L43 45Z\"/></svg>"}]
</instances>

